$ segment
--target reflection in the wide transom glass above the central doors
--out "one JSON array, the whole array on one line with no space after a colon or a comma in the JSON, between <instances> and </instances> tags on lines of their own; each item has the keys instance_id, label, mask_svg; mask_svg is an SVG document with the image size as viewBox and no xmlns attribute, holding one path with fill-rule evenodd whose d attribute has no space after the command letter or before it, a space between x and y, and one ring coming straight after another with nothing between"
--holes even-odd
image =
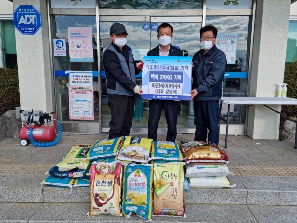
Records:
<instances>
[{"instance_id":1,"label":"reflection in the wide transom glass above the central doors","mask_svg":"<svg viewBox=\"0 0 297 223\"><path fill-rule=\"evenodd\" d=\"M201 9L202 0L99 0L99 6L114 9Z\"/></svg>"}]
</instances>

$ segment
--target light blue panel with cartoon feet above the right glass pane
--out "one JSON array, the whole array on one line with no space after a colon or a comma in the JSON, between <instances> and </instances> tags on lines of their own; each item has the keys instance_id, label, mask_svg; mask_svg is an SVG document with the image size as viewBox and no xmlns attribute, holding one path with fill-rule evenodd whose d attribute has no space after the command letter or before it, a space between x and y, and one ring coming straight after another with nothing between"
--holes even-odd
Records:
<instances>
[{"instance_id":1,"label":"light blue panel with cartoon feet above the right glass pane","mask_svg":"<svg viewBox=\"0 0 297 223\"><path fill-rule=\"evenodd\" d=\"M252 0L207 0L206 9L250 9Z\"/></svg>"}]
</instances>

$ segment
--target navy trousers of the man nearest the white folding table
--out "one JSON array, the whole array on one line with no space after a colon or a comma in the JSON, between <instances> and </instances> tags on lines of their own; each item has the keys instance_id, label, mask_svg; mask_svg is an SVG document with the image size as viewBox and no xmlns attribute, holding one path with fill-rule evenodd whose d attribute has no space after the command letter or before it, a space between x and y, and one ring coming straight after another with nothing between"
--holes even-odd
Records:
<instances>
[{"instance_id":1,"label":"navy trousers of the man nearest the white folding table","mask_svg":"<svg viewBox=\"0 0 297 223\"><path fill-rule=\"evenodd\" d=\"M220 121L219 100L196 101L194 100L194 124L195 141L206 141L208 129L208 143L213 142L219 145L220 130L218 127Z\"/></svg>"}]
</instances>

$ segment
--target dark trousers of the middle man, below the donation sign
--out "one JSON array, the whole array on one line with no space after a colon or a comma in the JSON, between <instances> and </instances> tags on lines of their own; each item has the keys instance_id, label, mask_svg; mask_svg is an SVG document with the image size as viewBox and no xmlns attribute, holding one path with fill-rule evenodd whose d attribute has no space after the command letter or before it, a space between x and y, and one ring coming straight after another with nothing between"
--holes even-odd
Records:
<instances>
[{"instance_id":1,"label":"dark trousers of the middle man, below the donation sign","mask_svg":"<svg viewBox=\"0 0 297 223\"><path fill-rule=\"evenodd\" d=\"M178 114L178 102L174 100L150 100L149 116L148 116L148 138L157 141L158 125L162 110L165 110L165 118L167 122L166 141L175 142L176 125Z\"/></svg>"}]
</instances>

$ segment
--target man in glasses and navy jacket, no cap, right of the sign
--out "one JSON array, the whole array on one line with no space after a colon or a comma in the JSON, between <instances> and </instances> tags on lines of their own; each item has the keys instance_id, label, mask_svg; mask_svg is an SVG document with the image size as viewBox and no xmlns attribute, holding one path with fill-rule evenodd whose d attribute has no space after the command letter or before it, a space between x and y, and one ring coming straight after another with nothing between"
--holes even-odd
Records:
<instances>
[{"instance_id":1,"label":"man in glasses and navy jacket, no cap, right of the sign","mask_svg":"<svg viewBox=\"0 0 297 223\"><path fill-rule=\"evenodd\" d=\"M192 91L194 98L194 140L219 144L220 121L219 99L226 69L226 55L215 46L217 28L207 25L200 29L201 50L193 56Z\"/></svg>"}]
</instances>

